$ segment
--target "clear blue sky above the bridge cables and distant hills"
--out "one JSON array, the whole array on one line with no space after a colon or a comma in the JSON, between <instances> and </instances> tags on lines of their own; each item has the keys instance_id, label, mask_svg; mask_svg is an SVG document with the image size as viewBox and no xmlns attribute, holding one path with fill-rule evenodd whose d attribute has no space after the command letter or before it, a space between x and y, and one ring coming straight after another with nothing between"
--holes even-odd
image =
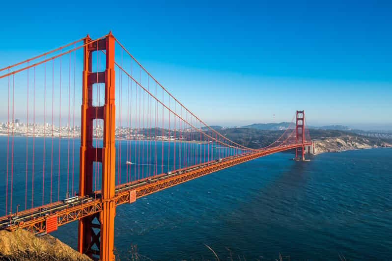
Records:
<instances>
[{"instance_id":1,"label":"clear blue sky above the bridge cables and distant hills","mask_svg":"<svg viewBox=\"0 0 392 261\"><path fill-rule=\"evenodd\" d=\"M0 68L111 30L209 125L304 109L308 125L392 130L391 11L391 1L8 1Z\"/></svg>"}]
</instances>

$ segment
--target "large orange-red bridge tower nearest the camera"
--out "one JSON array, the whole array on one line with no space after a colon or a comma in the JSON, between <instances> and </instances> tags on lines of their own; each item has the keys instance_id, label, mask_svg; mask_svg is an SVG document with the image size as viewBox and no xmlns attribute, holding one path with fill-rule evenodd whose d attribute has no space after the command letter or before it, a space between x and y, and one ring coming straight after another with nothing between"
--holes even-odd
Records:
<instances>
[{"instance_id":1,"label":"large orange-red bridge tower nearest the camera","mask_svg":"<svg viewBox=\"0 0 392 261\"><path fill-rule=\"evenodd\" d=\"M115 106L114 106L114 37L110 32L105 38L88 44L84 38L83 97L81 114L81 147L79 166L79 196L93 193L93 162L102 163L102 211L79 220L78 251L100 260L114 260L114 182L115 182ZM106 51L104 72L92 72L93 52ZM93 84L105 84L103 106L94 106ZM103 147L93 147L93 120L102 119Z\"/></svg>"}]
</instances>

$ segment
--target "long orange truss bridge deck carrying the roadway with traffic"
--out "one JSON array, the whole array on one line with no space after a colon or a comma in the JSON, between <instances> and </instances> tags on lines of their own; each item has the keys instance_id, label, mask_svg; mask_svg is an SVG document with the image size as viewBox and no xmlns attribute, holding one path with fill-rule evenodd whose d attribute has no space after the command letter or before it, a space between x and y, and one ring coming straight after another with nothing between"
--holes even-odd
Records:
<instances>
[{"instance_id":1,"label":"long orange truss bridge deck carrying the roadway with traffic","mask_svg":"<svg viewBox=\"0 0 392 261\"><path fill-rule=\"evenodd\" d=\"M305 143L311 145L311 142ZM224 168L252 160L254 158L267 156L270 154L302 147L301 144L292 144L256 151L254 153L242 154L223 158L222 161L209 161L188 168L179 169L168 173L163 173L155 177L145 178L136 182L120 184L115 187L115 204L132 203L137 198L158 192L165 188L184 183L198 177L222 170ZM17 215L7 215L0 217L0 230L15 230L24 228L38 234L46 232L46 219L57 215L57 226L81 219L102 210L100 191L93 195L80 197L75 202L65 203L57 201L45 206L19 211Z\"/></svg>"}]
</instances>

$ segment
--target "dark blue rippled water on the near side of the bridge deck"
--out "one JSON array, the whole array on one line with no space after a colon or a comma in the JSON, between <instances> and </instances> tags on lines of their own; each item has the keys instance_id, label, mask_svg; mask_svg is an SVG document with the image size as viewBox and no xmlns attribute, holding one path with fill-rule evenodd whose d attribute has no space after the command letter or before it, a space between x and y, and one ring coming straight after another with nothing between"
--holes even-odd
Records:
<instances>
[{"instance_id":1,"label":"dark blue rippled water on the near side of the bridge deck","mask_svg":"<svg viewBox=\"0 0 392 261\"><path fill-rule=\"evenodd\" d=\"M117 207L117 257L133 244L152 260L213 260L207 244L221 260L391 260L392 149L291 157L258 158ZM76 222L52 234L76 248Z\"/></svg>"}]
</instances>

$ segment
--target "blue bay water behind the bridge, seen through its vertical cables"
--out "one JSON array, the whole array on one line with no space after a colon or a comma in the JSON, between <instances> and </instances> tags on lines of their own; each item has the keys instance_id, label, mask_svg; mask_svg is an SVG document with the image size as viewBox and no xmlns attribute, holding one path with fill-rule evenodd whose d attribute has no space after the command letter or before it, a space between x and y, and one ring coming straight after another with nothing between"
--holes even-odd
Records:
<instances>
[{"instance_id":1,"label":"blue bay water behind the bridge, seen through its vertical cables","mask_svg":"<svg viewBox=\"0 0 392 261\"><path fill-rule=\"evenodd\" d=\"M118 150L119 144L121 150ZM93 146L102 147L102 140L94 140ZM216 160L224 157L224 152L226 155L229 151L230 155L240 153L239 150L196 142L121 140L116 141L115 146L116 184L172 171L174 165L175 169L179 169ZM12 140L11 137L0 136L0 202L3 202L0 216L8 214L11 209L15 212L17 204L20 205L19 210L30 209L74 195L79 188L79 150L79 139L14 137ZM133 164L127 165L126 161ZM93 190L101 189L101 175L101 163L93 163ZM5 191L8 191L8 199Z\"/></svg>"}]
</instances>

